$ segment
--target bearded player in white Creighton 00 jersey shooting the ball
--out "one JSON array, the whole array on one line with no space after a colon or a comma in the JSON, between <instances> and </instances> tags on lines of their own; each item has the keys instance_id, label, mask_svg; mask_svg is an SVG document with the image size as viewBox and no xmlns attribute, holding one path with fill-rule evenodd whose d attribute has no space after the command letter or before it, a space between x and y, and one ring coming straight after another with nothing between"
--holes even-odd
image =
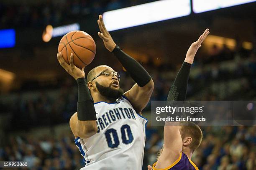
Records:
<instances>
[{"instance_id":1,"label":"bearded player in white Creighton 00 jersey shooting the ball","mask_svg":"<svg viewBox=\"0 0 256 170\"><path fill-rule=\"evenodd\" d=\"M70 119L70 127L84 157L85 167L81 170L141 170L147 123L141 111L150 99L154 82L136 60L115 44L102 15L97 23L105 47L118 58L136 84L123 93L120 74L106 65L89 71L86 82L84 68L74 66L73 54L70 65L61 53L57 54L61 66L78 85L77 112Z\"/></svg>"}]
</instances>

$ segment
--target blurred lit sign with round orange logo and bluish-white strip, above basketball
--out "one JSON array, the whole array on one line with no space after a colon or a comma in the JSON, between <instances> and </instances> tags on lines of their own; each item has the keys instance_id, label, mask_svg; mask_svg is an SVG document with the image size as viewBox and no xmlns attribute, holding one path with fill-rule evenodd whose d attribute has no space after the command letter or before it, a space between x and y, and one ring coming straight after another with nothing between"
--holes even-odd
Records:
<instances>
[{"instance_id":1,"label":"blurred lit sign with round orange logo and bluish-white strip, above basketball","mask_svg":"<svg viewBox=\"0 0 256 170\"><path fill-rule=\"evenodd\" d=\"M43 32L42 38L43 38L44 42L49 42L51 40L51 38L64 36L65 34L69 33L70 31L79 30L79 29L80 29L80 25L78 23L59 26L56 28L53 28L51 25L47 25L46 29Z\"/></svg>"}]
</instances>

